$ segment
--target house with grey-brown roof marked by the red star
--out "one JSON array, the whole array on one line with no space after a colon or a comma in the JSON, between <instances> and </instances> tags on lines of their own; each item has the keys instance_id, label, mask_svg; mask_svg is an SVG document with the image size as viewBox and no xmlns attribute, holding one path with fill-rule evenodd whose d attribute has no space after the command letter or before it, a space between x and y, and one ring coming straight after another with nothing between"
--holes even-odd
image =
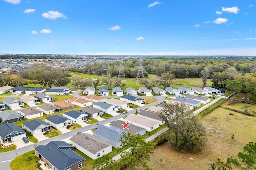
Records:
<instances>
[{"instance_id":1,"label":"house with grey-brown roof marked by the red star","mask_svg":"<svg viewBox=\"0 0 256 170\"><path fill-rule=\"evenodd\" d=\"M109 125L109 127L114 129L114 130L117 130L119 132L126 131L126 132L130 132L132 134L140 134L140 135L146 134L146 129L145 128L136 126L134 124L130 124L130 125L128 125L128 128L124 128L123 124L125 124L125 121L116 120L116 121L112 122Z\"/></svg>"}]
</instances>

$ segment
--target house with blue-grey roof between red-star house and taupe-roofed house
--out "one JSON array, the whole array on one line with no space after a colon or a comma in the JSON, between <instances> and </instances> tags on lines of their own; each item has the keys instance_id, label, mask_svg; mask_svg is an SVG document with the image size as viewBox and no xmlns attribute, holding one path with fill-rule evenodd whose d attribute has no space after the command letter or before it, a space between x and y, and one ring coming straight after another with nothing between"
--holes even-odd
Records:
<instances>
[{"instance_id":1,"label":"house with blue-grey roof between red-star house and taupe-roofed house","mask_svg":"<svg viewBox=\"0 0 256 170\"><path fill-rule=\"evenodd\" d=\"M92 131L92 135L111 144L115 148L122 147L122 143L120 142L120 138L124 138L122 132L114 130L110 127L99 125L96 130Z\"/></svg>"}]
</instances>

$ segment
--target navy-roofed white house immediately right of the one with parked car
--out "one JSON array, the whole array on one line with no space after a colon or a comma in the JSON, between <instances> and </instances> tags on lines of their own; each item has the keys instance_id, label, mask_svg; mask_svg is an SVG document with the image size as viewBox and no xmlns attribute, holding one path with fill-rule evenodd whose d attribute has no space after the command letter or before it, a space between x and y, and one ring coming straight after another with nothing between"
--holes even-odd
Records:
<instances>
[{"instance_id":1,"label":"navy-roofed white house immediately right of the one with parked car","mask_svg":"<svg viewBox=\"0 0 256 170\"><path fill-rule=\"evenodd\" d=\"M45 133L51 130L51 125L42 121L41 119L34 119L22 123L22 128L31 132L33 136L36 134Z\"/></svg>"}]
</instances>

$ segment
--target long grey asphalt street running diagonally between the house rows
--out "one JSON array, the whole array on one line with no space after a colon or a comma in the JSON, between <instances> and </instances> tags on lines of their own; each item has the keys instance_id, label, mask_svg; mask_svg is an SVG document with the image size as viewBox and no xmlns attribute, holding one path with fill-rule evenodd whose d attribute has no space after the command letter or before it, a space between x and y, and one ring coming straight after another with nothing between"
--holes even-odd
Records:
<instances>
[{"instance_id":1,"label":"long grey asphalt street running diagonally between the house rows","mask_svg":"<svg viewBox=\"0 0 256 170\"><path fill-rule=\"evenodd\" d=\"M73 96L74 97L80 97L82 98L81 96L79 96L78 94L80 93L80 91L76 91ZM153 96L143 96L143 97L151 97L153 98ZM138 111L139 110L143 110L143 109L146 109L148 107L151 107L151 106L154 106L154 105L157 105L161 102L164 101L164 97L165 96L154 96L154 98L158 99L158 101L154 102L154 103L150 103L148 105L144 105L142 107L139 107L138 108ZM12 150L12 151L9 151L9 152L1 152L0 153L0 170L10 170L10 162L16 158L15 154L17 153L18 156L19 155L22 155L30 150L34 150L34 148L38 145L46 145L48 144L50 141L59 141L59 140L63 140L65 138L68 138L68 137L71 137L75 134L77 134L77 132L85 132L87 130L90 130L92 128L96 128L98 125L104 125L106 123L110 123L112 121L115 121L117 119L120 119L122 117L125 116L128 116L128 115L131 115L133 113L135 113L135 109L132 110L132 111L128 111L128 113L126 114L119 114L119 115L116 115L114 117L110 117L109 119L105 119L103 121L100 121L100 122L97 122L97 123L94 123L92 125L88 125L86 127L82 127L82 128L79 128L77 130L72 130L70 132L67 132L67 133L64 133L64 134L61 134L61 135L58 135L58 136L55 136L55 137L52 137L52 138L49 138L49 139L46 139L46 140L43 140L43 141L40 141L40 142L37 142L36 144L31 144L31 145L28 145L28 146L25 146L23 148L19 148L19 149L16 149L16 150Z\"/></svg>"}]
</instances>

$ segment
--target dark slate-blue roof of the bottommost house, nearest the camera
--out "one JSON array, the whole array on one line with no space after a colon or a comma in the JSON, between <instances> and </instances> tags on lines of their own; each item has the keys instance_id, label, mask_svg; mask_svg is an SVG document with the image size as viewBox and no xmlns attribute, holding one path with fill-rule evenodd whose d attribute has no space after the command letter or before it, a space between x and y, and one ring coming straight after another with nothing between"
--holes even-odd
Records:
<instances>
[{"instance_id":1,"label":"dark slate-blue roof of the bottommost house, nearest the camera","mask_svg":"<svg viewBox=\"0 0 256 170\"><path fill-rule=\"evenodd\" d=\"M45 146L37 146L35 150L55 168L64 170L81 160L85 160L70 148L72 148L72 146L64 141L51 141Z\"/></svg>"}]
</instances>

